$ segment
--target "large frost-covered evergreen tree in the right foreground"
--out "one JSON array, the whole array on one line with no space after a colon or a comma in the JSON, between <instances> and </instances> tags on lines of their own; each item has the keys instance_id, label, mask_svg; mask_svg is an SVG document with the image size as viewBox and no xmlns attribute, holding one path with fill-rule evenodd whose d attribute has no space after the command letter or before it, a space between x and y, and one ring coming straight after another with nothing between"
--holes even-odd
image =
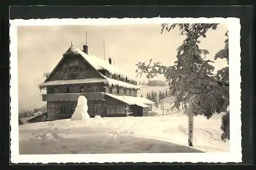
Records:
<instances>
[{"instance_id":1,"label":"large frost-covered evergreen tree in the right foreground","mask_svg":"<svg viewBox=\"0 0 256 170\"><path fill-rule=\"evenodd\" d=\"M204 115L209 119L212 114L226 112L229 105L229 81L228 66L214 74L215 67L211 60L205 60L209 52L199 48L199 38L206 38L209 29L215 30L217 23L180 23L162 24L161 33L168 32L179 27L180 34L186 36L182 44L177 48L177 60L173 66L164 66L160 62L151 65L139 62L136 70L137 76L146 74L147 78L153 78L158 74L163 74L170 86L170 95L174 97L174 106L179 108L181 102L188 103L185 113L189 119L188 143L193 146L193 125L195 115ZM225 47L215 55L217 58L226 59L228 64L228 32L225 34ZM139 70L139 71L138 71ZM222 121L227 122L229 113L223 116ZM224 132L222 140L227 138L229 125L225 124L221 128ZM223 126L224 127L224 126Z\"/></svg>"}]
</instances>

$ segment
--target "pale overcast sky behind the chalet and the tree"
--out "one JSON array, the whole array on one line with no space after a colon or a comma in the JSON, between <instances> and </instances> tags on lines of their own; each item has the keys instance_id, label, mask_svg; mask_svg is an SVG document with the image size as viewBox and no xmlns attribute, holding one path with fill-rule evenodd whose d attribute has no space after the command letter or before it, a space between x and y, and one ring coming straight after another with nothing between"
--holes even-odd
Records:
<instances>
[{"instance_id":1,"label":"pale overcast sky behind the chalet and the tree","mask_svg":"<svg viewBox=\"0 0 256 170\"><path fill-rule=\"evenodd\" d=\"M82 49L86 43L86 31L89 53L103 59L105 42L105 58L111 57L116 66L133 77L136 76L135 64L139 61L153 58L153 62L172 65L176 60L176 49L184 40L178 28L160 34L161 25L18 27L19 111L44 104L38 88L38 84L44 81L44 72L52 71L71 46L71 40L73 46ZM208 30L207 38L201 39L200 47L210 52L208 59L214 60L214 55L224 47L226 31L227 26L222 24L217 30ZM215 62L216 69L226 66L225 60Z\"/></svg>"}]
</instances>

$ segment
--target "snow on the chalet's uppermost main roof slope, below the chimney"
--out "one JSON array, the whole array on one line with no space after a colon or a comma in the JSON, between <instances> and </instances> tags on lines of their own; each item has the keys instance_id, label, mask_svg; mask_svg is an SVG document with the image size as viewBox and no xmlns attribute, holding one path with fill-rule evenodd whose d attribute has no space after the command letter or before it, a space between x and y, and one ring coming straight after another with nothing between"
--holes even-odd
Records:
<instances>
[{"instance_id":1,"label":"snow on the chalet's uppermost main roof slope, below the chimney","mask_svg":"<svg viewBox=\"0 0 256 170\"><path fill-rule=\"evenodd\" d=\"M100 69L106 69L108 70L111 74L116 74L117 76L121 77L127 77L131 80L136 81L134 78L131 78L129 76L126 76L117 66L110 64L108 61L102 60L92 54L86 54L79 48L76 48L74 46L72 47L72 51L74 53L80 54L84 59L86 59L95 69L100 70ZM69 51L69 50L68 50Z\"/></svg>"}]
</instances>

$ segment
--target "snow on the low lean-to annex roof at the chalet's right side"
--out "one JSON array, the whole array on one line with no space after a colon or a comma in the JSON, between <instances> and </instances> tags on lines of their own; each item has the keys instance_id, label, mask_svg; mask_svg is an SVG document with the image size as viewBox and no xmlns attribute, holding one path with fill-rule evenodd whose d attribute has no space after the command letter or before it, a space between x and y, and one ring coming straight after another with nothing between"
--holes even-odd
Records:
<instances>
[{"instance_id":1,"label":"snow on the low lean-to annex roof at the chalet's right side","mask_svg":"<svg viewBox=\"0 0 256 170\"><path fill-rule=\"evenodd\" d=\"M139 98L135 96L128 96L128 95L116 95L116 94L109 94L106 93L106 95L111 96L112 98L115 98L119 101L122 101L129 105L138 105L141 107L148 107L146 104L154 104L154 102L145 99L145 98Z\"/></svg>"}]
</instances>

